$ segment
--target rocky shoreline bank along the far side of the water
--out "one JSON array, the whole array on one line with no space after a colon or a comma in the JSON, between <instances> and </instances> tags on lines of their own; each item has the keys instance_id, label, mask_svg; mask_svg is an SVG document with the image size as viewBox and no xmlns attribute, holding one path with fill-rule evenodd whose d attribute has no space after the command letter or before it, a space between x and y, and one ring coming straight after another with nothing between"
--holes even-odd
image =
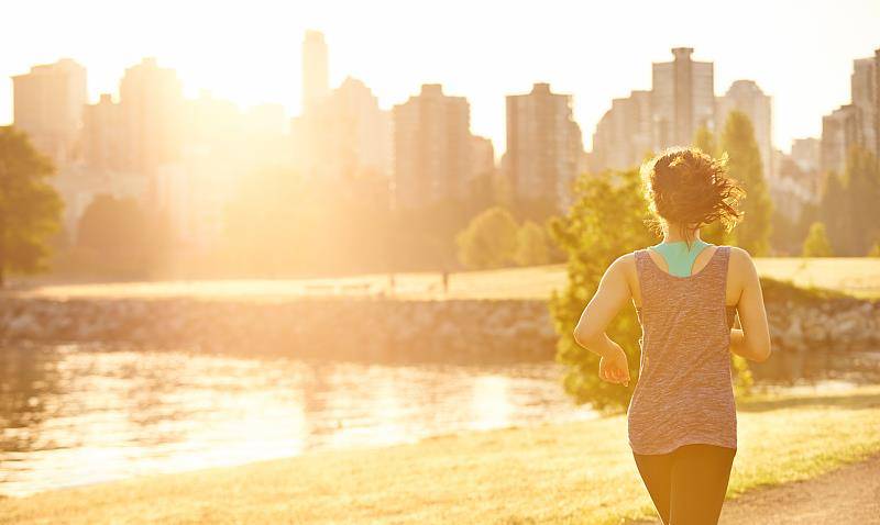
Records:
<instances>
[{"instance_id":1,"label":"rocky shoreline bank along the far side of the water","mask_svg":"<svg viewBox=\"0 0 880 525\"><path fill-rule=\"evenodd\" d=\"M880 349L880 301L818 297L779 284L766 286L765 300L776 350L771 361L787 369L803 366L798 364L804 357ZM557 334L547 303L539 300L11 295L0 298L0 340L378 362L516 362L552 359Z\"/></svg>"}]
</instances>

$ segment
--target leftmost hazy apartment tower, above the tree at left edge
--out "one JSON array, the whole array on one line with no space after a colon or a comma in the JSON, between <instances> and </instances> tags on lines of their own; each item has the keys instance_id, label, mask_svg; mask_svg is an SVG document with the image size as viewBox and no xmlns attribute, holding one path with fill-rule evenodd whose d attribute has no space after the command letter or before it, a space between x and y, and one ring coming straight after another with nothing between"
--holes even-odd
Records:
<instances>
[{"instance_id":1,"label":"leftmost hazy apartment tower, above the tree at left edge","mask_svg":"<svg viewBox=\"0 0 880 525\"><path fill-rule=\"evenodd\" d=\"M12 77L13 123L56 166L73 161L87 102L86 69L70 58Z\"/></svg>"}]
</instances>

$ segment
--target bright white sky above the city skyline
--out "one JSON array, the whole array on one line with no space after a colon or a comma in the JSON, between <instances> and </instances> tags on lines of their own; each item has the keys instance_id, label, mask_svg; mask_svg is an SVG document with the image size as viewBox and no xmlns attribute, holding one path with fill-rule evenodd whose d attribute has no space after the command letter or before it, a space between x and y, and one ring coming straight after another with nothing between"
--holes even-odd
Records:
<instances>
[{"instance_id":1,"label":"bright white sky above the city skyline","mask_svg":"<svg viewBox=\"0 0 880 525\"><path fill-rule=\"evenodd\" d=\"M298 114L301 42L326 35L330 86L363 80L389 109L426 82L471 103L471 127L505 147L505 94L538 81L574 96L587 149L612 99L650 89L651 63L693 47L715 63L715 92L751 79L773 98L773 139L818 136L850 100L853 60L880 47L880 0L773 1L101 1L3 0L0 124L12 121L12 75L70 57L91 101L116 97L145 56L173 67L185 91L242 109Z\"/></svg>"}]
</instances>

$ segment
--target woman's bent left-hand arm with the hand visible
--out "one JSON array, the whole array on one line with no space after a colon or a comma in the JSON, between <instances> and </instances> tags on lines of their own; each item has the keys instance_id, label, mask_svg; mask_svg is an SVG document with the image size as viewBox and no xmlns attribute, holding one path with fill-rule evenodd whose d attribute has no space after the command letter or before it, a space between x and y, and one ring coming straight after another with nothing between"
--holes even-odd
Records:
<instances>
[{"instance_id":1,"label":"woman's bent left-hand arm with the hand visible","mask_svg":"<svg viewBox=\"0 0 880 525\"><path fill-rule=\"evenodd\" d=\"M626 256L612 262L602 276L596 293L574 327L574 340L602 357L600 377L603 380L628 386L629 365L626 353L605 334L605 328L632 297L624 273L624 257Z\"/></svg>"}]
</instances>

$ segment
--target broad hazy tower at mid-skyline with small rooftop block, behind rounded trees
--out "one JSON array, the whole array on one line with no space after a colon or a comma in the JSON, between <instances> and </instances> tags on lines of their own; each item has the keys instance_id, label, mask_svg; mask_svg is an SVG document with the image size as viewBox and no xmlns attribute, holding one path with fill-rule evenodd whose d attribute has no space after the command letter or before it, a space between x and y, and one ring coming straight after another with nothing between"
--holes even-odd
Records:
<instances>
[{"instance_id":1,"label":"broad hazy tower at mid-skyline with small rooftop block, behind rounded trees","mask_svg":"<svg viewBox=\"0 0 880 525\"><path fill-rule=\"evenodd\" d=\"M394 205L411 209L465 197L473 163L471 107L438 83L394 107Z\"/></svg>"}]
</instances>

